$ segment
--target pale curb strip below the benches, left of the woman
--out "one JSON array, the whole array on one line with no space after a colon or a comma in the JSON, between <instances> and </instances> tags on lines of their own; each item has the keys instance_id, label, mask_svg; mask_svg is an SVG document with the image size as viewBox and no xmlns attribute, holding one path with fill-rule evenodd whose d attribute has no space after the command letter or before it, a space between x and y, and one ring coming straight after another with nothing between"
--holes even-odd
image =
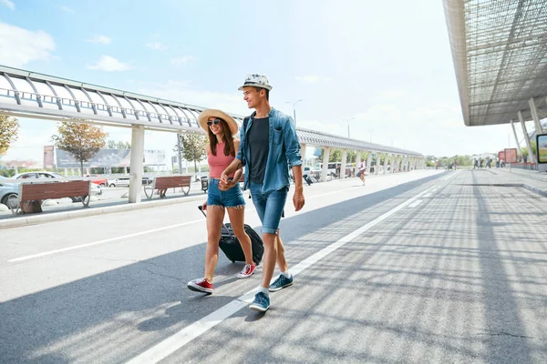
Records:
<instances>
[{"instance_id":1,"label":"pale curb strip below the benches, left of the woman","mask_svg":"<svg viewBox=\"0 0 547 364\"><path fill-rule=\"evenodd\" d=\"M125 204L118 206L106 207L82 207L74 211L52 212L45 215L29 216L29 217L14 217L6 221L0 221L0 230L12 227L26 227L30 225L38 225L46 222L64 221L79 217L89 217L102 214L111 214L115 212L132 211L142 208L161 207L166 205L183 204L191 201L203 200L207 195L191 196L191 197L171 197L170 199L142 201L138 204Z\"/></svg>"}]
</instances>

